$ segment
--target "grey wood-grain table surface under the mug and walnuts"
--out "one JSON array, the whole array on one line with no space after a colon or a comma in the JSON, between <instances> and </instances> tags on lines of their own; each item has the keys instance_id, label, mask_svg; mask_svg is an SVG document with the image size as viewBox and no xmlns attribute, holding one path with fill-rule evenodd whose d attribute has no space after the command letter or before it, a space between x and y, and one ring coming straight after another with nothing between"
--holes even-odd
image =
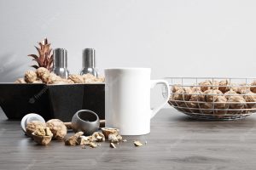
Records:
<instances>
[{"instance_id":1,"label":"grey wood-grain table surface under the mug and walnuts","mask_svg":"<svg viewBox=\"0 0 256 170\"><path fill-rule=\"evenodd\" d=\"M0 113L0 169L256 169L256 116L232 122L196 121L163 109L151 133L125 137L112 149L39 146L25 137L20 122ZM72 133L69 133L71 135ZM135 147L133 139L147 144Z\"/></svg>"}]
</instances>

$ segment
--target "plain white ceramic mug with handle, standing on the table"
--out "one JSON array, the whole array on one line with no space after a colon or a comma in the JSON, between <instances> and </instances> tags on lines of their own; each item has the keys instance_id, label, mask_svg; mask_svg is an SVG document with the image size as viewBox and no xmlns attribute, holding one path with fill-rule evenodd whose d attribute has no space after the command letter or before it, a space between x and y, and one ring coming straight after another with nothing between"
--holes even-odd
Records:
<instances>
[{"instance_id":1,"label":"plain white ceramic mug with handle, standing on the table","mask_svg":"<svg viewBox=\"0 0 256 170\"><path fill-rule=\"evenodd\" d=\"M150 119L170 97L168 82L150 80L149 68L105 69L106 127L119 128L122 135L150 133ZM167 95L160 106L150 108L150 89L163 84Z\"/></svg>"}]
</instances>

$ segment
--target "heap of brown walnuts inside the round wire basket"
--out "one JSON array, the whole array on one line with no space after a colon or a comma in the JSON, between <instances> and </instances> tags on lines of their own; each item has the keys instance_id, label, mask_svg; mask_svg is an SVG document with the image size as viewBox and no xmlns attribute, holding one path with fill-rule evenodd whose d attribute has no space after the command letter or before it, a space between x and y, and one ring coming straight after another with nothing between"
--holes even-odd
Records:
<instances>
[{"instance_id":1,"label":"heap of brown walnuts inside the round wire basket","mask_svg":"<svg viewBox=\"0 0 256 170\"><path fill-rule=\"evenodd\" d=\"M241 114L247 112L244 109L252 108L256 111L256 87L253 86L256 81L235 84L229 80L206 80L191 87L177 84L172 86L169 103L179 111L192 113Z\"/></svg>"}]
</instances>

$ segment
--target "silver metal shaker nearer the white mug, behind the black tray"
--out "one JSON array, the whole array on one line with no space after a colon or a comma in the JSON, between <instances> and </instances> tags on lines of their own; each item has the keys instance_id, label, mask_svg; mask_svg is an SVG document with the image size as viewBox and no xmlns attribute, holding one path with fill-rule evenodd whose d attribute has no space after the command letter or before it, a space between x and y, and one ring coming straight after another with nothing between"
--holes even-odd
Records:
<instances>
[{"instance_id":1,"label":"silver metal shaker nearer the white mug, behind the black tray","mask_svg":"<svg viewBox=\"0 0 256 170\"><path fill-rule=\"evenodd\" d=\"M96 58L94 48L85 48L83 50L83 70L80 72L80 75L87 73L90 73L95 77L98 76L96 71Z\"/></svg>"}]
</instances>

